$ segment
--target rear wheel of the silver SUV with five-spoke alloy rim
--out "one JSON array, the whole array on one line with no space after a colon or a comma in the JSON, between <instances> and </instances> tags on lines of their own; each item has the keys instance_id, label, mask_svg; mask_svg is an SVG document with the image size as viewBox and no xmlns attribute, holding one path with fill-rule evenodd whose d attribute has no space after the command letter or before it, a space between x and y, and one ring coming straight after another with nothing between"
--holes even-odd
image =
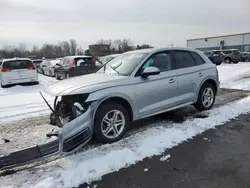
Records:
<instances>
[{"instance_id":1,"label":"rear wheel of the silver SUV with five-spoke alloy rim","mask_svg":"<svg viewBox=\"0 0 250 188\"><path fill-rule=\"evenodd\" d=\"M199 92L198 100L194 104L195 108L199 111L210 110L214 105L215 93L215 88L212 84L203 84Z\"/></svg>"}]
</instances>

